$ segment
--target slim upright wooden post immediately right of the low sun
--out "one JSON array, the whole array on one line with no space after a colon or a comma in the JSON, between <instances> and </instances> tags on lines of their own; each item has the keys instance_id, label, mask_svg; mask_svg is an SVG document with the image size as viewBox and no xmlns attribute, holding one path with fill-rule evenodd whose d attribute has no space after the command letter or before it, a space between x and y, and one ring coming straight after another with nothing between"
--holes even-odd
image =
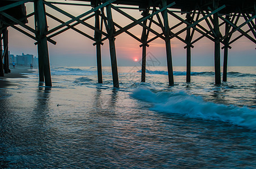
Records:
<instances>
[{"instance_id":1,"label":"slim upright wooden post immediately right of the low sun","mask_svg":"<svg viewBox=\"0 0 256 169\"><path fill-rule=\"evenodd\" d=\"M142 15L144 17L147 16L148 10L144 10L142 12ZM147 20L143 21L143 25L147 25ZM147 29L145 27L143 27L141 39L143 41L143 45L142 45L142 82L146 82Z\"/></svg>"}]
</instances>

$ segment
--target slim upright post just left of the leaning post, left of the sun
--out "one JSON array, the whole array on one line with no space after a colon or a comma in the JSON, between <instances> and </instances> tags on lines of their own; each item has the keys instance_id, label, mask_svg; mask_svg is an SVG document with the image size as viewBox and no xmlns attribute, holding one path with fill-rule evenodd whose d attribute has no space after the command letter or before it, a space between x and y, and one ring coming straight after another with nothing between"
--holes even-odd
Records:
<instances>
[{"instance_id":1,"label":"slim upright post just left of the leaning post, left of the sun","mask_svg":"<svg viewBox=\"0 0 256 169\"><path fill-rule=\"evenodd\" d=\"M98 5L98 4L97 4ZM100 29L100 17L99 10L95 11L95 28ZM96 56L97 56L97 73L98 73L98 83L103 83L102 78L102 68L101 68L101 33L95 31L95 39L96 39Z\"/></svg>"}]
</instances>

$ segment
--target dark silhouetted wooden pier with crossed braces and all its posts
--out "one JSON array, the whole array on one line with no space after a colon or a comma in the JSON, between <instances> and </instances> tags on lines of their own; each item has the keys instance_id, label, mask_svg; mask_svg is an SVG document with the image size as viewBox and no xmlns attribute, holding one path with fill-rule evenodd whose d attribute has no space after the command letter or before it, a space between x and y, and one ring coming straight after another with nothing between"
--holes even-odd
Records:
<instances>
[{"instance_id":1,"label":"dark silhouetted wooden pier with crossed braces and all its posts","mask_svg":"<svg viewBox=\"0 0 256 169\"><path fill-rule=\"evenodd\" d=\"M34 11L26 14L25 3L33 3ZM79 16L73 16L62 10L58 5L69 6L90 6L91 9L86 10ZM45 10L45 6L58 11L59 13L70 18L68 21L62 21L57 15L50 14ZM135 19L133 16L125 12L126 9L142 11L142 17ZM117 11L120 15L127 17L133 23L126 26L119 25L113 20L112 11ZM186 19L182 18L182 15ZM27 25L28 17L35 18L35 27ZM58 21L59 25L48 30L47 17ZM94 25L87 21L95 18ZM176 25L170 25L172 18L178 19L180 22ZM170 40L177 38L184 42L186 48L187 74L186 81L190 82L191 70L191 48L193 44L202 38L208 38L215 44L214 60L215 60L215 83L221 83L220 70L220 49L223 45L224 64L223 64L223 81L227 81L227 60L228 49L231 44L241 37L250 39L256 44L256 0L91 0L91 1L45 1L45 0L4 0L0 4L0 23L1 23L1 55L4 51L2 59L5 64L0 64L0 75L10 72L8 69L8 31L7 27L18 30L36 41L39 56L39 81L45 82L45 86L52 86L48 42L56 42L52 39L58 34L72 29L81 35L91 39L93 45L96 46L98 82L103 83L103 75L101 70L101 45L108 39L110 59L113 75L113 86L119 87L117 56L115 48L115 38L126 33L139 41L142 45L142 82L146 81L146 50L150 42L157 38L161 38L165 42L168 66L169 85L173 85L173 68L172 68L172 51ZM202 21L205 25L202 25ZM242 23L241 23L242 21ZM241 23L238 25L238 23ZM76 25L82 24L95 33L90 35L83 32ZM152 24L159 26L161 32L157 32L152 28ZM19 25L19 26L16 26ZM137 37L129 32L129 29L136 25L142 26L142 35ZM182 27L183 25L183 27ZM184 26L185 25L185 26ZM247 26L245 26L247 25ZM22 26L22 29L20 28ZM221 32L220 26L225 26L225 31ZM174 29L180 28L178 32ZM247 30L244 30L244 29ZM194 37L195 32L199 33L199 37ZM239 32L234 38L234 33ZM153 34L153 38L149 38L149 34ZM186 33L186 37L182 38L181 34ZM233 36L233 39L232 39ZM3 39L3 48L2 48Z\"/></svg>"}]
</instances>

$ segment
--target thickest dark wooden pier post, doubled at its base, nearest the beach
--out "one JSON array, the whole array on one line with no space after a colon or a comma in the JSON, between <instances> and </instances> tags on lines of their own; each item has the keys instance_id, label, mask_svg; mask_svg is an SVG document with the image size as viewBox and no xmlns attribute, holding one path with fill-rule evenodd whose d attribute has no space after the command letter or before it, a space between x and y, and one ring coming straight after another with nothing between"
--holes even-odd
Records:
<instances>
[{"instance_id":1,"label":"thickest dark wooden pier post, doubled at its base, nearest the beach","mask_svg":"<svg viewBox=\"0 0 256 169\"><path fill-rule=\"evenodd\" d=\"M43 0L35 0L35 25L36 37L39 39L37 43L37 50L39 56L39 81L44 82L45 86L52 87L52 78L50 75L49 52L46 32L48 30L45 6Z\"/></svg>"}]
</instances>

